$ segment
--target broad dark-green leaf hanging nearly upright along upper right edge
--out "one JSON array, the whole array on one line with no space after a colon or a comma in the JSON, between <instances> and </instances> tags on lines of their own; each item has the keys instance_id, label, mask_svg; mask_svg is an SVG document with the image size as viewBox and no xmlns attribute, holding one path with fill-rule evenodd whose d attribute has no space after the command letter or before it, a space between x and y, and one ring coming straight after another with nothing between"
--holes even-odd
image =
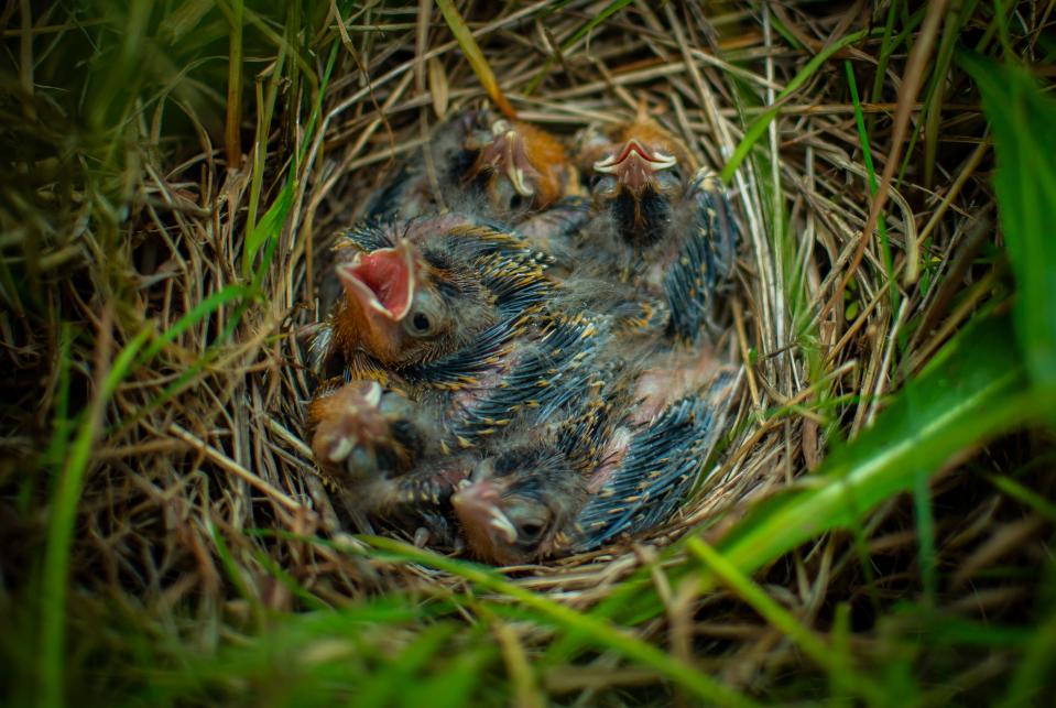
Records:
<instances>
[{"instance_id":1,"label":"broad dark-green leaf hanging nearly upright along upper right edge","mask_svg":"<svg viewBox=\"0 0 1056 708\"><path fill-rule=\"evenodd\" d=\"M1017 296L1015 335L1034 385L1056 395L1056 100L1015 66L975 54L961 65L979 85L993 131L998 215Z\"/></svg>"}]
</instances>

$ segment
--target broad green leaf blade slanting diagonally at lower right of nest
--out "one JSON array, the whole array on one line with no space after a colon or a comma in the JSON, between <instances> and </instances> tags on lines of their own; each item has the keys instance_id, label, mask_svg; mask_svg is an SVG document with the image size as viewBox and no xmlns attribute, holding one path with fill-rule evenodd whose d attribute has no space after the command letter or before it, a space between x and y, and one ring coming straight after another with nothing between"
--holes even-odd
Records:
<instances>
[{"instance_id":1,"label":"broad green leaf blade slanting diagonally at lower right of nest","mask_svg":"<svg viewBox=\"0 0 1056 708\"><path fill-rule=\"evenodd\" d=\"M1035 395L1006 317L960 335L906 385L875 425L836 450L818 475L760 504L719 544L742 570L777 558L913 488L918 470L1035 420L1053 403Z\"/></svg>"}]
</instances>

